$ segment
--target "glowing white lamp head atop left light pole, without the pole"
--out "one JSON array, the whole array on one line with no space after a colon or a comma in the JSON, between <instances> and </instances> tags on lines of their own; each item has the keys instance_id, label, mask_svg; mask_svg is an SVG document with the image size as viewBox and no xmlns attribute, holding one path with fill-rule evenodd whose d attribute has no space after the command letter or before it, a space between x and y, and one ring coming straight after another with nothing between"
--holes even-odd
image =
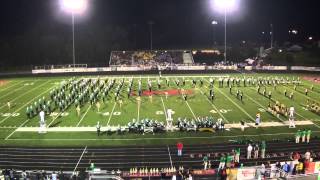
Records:
<instances>
[{"instance_id":1,"label":"glowing white lamp head atop left light pole, without the pole","mask_svg":"<svg viewBox=\"0 0 320 180\"><path fill-rule=\"evenodd\" d=\"M66 12L81 14L87 9L88 0L60 0L60 4Z\"/></svg>"}]
</instances>

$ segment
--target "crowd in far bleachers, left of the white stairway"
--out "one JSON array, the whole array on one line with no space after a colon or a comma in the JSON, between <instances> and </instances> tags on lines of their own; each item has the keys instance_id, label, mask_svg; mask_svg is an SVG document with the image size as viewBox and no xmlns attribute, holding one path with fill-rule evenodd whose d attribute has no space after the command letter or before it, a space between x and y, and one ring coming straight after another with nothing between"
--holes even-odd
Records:
<instances>
[{"instance_id":1,"label":"crowd in far bleachers, left of the white stairway","mask_svg":"<svg viewBox=\"0 0 320 180\"><path fill-rule=\"evenodd\" d=\"M183 64L184 51L113 51L110 65L171 65Z\"/></svg>"}]
</instances>

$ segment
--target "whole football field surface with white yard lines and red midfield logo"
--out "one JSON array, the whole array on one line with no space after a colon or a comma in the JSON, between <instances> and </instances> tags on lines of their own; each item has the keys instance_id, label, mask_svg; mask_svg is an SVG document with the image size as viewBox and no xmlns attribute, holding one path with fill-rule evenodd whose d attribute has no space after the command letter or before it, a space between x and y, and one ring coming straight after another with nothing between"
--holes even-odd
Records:
<instances>
[{"instance_id":1,"label":"whole football field surface with white yard lines and red midfield logo","mask_svg":"<svg viewBox=\"0 0 320 180\"><path fill-rule=\"evenodd\" d=\"M0 144L100 146L166 144L175 143L178 140L186 143L214 143L239 139L292 138L298 129L311 129L313 135L319 135L320 114L312 111L308 102L320 104L320 84L312 81L312 78L310 80L310 76L307 79L306 76L303 74L205 74L163 75L161 78L156 75L141 75L1 79ZM227 79L229 85L227 85ZM279 81L281 79L281 83L274 85L275 79ZM133 85L128 97L131 80ZM210 87L212 80L214 85ZM102 89L106 88L111 81L114 85L109 89L108 95L105 95ZM138 96L139 81L141 97ZM263 83L258 85L259 81ZM93 103L85 100L79 105L79 114L74 101L60 110L51 97L53 90L68 83L65 92L67 96L71 94L70 88L73 82L84 83L85 87L91 87L91 84L97 82L97 88L94 86L94 89L89 89L89 92L93 93L98 89L98 98ZM224 83L223 86L221 82ZM151 90L149 90L150 85ZM230 86L232 86L231 90ZM116 100L115 93L118 87L120 87L120 94ZM213 98L210 96L210 89L214 93ZM291 94L292 98L290 98ZM51 101L49 103L51 112L45 115L48 131L45 134L38 133L39 115L35 114L28 118L26 113L27 107L34 106L39 99ZM276 115L270 112L270 107L277 103L285 108L293 106L295 121L297 124L301 122L300 125L289 129L288 115ZM104 132L107 127L126 126L129 122L133 122L133 119L134 121L152 119L166 124L168 109L172 110L174 124L178 119L186 118L192 121L212 117L214 121L221 118L226 125L230 124L230 128L227 131L215 133L136 134L125 132L117 134L115 132L108 134ZM261 122L266 124L265 127L258 129L250 127L249 124L255 122L258 113L261 116ZM245 132L237 128L241 121L249 125ZM100 136L97 136L95 131L97 122L102 126Z\"/></svg>"}]
</instances>

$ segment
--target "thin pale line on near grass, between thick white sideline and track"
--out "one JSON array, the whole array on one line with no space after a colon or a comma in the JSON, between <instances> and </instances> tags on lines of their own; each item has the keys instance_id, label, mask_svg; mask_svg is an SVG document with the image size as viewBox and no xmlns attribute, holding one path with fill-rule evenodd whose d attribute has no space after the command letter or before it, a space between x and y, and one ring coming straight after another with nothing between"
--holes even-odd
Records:
<instances>
[{"instance_id":1,"label":"thin pale line on near grass, between thick white sideline and track","mask_svg":"<svg viewBox=\"0 0 320 180\"><path fill-rule=\"evenodd\" d=\"M320 131L313 131L314 133L319 133ZM295 135L296 133L274 133L274 134L242 134L242 135L232 135L232 136L186 136L186 137L151 137L151 138L131 138L131 139L6 139L8 141L144 141L144 140L183 140L183 139L219 139L219 138L241 138L241 137L259 137L259 136L281 136L281 135ZM293 137L293 136L292 136Z\"/></svg>"}]
</instances>

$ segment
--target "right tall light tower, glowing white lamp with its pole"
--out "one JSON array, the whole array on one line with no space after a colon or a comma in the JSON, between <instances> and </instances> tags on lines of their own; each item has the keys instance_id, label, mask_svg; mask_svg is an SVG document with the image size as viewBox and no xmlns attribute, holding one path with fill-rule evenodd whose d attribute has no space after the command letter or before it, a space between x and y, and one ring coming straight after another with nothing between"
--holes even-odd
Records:
<instances>
[{"instance_id":1,"label":"right tall light tower, glowing white lamp with its pole","mask_svg":"<svg viewBox=\"0 0 320 180\"><path fill-rule=\"evenodd\" d=\"M224 63L227 62L227 14L235 11L238 6L238 0L212 0L212 8L218 12L224 13Z\"/></svg>"}]
</instances>

